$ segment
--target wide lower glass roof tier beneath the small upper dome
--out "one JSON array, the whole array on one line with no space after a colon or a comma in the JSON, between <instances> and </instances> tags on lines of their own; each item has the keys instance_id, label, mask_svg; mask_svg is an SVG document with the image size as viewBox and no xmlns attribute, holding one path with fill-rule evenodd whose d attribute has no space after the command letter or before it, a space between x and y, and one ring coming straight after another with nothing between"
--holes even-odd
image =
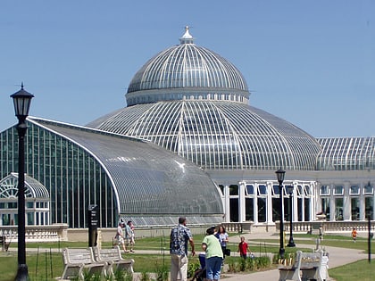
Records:
<instances>
[{"instance_id":1,"label":"wide lower glass roof tier beneath the small upper dome","mask_svg":"<svg viewBox=\"0 0 375 281\"><path fill-rule=\"evenodd\" d=\"M204 169L313 170L321 151L300 128L243 103L137 104L88 126L150 140Z\"/></svg>"}]
</instances>

